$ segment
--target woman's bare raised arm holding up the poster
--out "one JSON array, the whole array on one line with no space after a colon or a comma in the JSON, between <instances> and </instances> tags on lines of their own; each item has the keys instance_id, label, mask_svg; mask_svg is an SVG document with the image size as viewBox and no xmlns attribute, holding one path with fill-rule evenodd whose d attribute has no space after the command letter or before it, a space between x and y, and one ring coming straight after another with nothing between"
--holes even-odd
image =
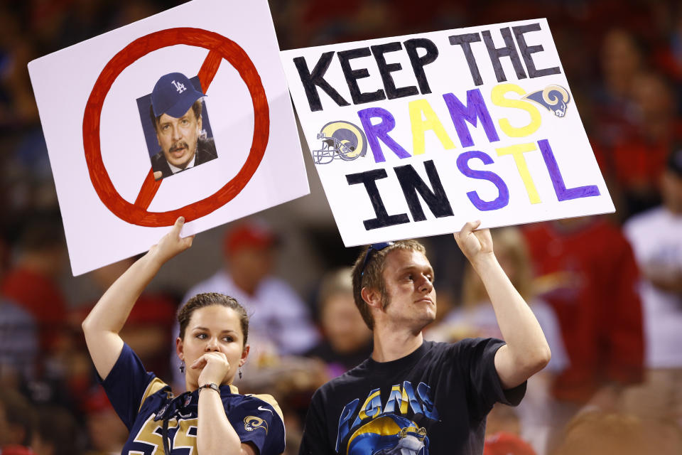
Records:
<instances>
[{"instance_id":1,"label":"woman's bare raised arm holding up the poster","mask_svg":"<svg viewBox=\"0 0 682 455\"><path fill-rule=\"evenodd\" d=\"M133 305L158 269L178 253L192 246L194 236L180 238L185 218L175 221L173 229L151 247L146 255L130 266L112 284L82 323L87 350L97 373L109 375L123 349L119 331L123 328Z\"/></svg>"}]
</instances>

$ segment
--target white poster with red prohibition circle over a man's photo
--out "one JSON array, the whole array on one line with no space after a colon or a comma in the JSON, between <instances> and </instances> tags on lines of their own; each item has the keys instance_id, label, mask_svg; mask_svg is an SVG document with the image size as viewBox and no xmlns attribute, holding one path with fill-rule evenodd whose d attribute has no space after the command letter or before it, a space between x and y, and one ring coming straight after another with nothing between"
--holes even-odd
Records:
<instances>
[{"instance_id":1,"label":"white poster with red prohibition circle over a man's photo","mask_svg":"<svg viewBox=\"0 0 682 455\"><path fill-rule=\"evenodd\" d=\"M185 236L308 194L266 0L190 1L28 70L74 275L180 215Z\"/></svg>"}]
</instances>

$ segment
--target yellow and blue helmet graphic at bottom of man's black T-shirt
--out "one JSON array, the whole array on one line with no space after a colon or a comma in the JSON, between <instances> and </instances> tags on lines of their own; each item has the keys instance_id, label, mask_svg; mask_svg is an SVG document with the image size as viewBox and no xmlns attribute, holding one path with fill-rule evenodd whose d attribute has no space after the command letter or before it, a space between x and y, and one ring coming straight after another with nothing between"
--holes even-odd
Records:
<instances>
[{"instance_id":1,"label":"yellow and blue helmet graphic at bottom of man's black T-shirt","mask_svg":"<svg viewBox=\"0 0 682 455\"><path fill-rule=\"evenodd\" d=\"M386 414L359 427L348 439L348 455L428 455L426 429Z\"/></svg>"}]
</instances>

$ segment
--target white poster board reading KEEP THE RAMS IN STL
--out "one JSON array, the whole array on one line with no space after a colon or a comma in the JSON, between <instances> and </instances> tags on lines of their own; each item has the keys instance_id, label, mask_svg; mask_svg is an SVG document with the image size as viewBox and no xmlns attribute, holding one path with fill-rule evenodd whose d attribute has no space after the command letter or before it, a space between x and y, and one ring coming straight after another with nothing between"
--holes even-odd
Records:
<instances>
[{"instance_id":1,"label":"white poster board reading KEEP THE RAMS IN STL","mask_svg":"<svg viewBox=\"0 0 682 455\"><path fill-rule=\"evenodd\" d=\"M346 246L615 210L545 19L281 58Z\"/></svg>"}]
</instances>

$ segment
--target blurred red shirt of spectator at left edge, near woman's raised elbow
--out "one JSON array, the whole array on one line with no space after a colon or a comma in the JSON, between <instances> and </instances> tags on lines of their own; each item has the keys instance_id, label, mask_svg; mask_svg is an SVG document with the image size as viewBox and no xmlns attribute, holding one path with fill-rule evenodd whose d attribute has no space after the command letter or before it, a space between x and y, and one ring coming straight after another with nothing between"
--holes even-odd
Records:
<instances>
[{"instance_id":1,"label":"blurred red shirt of spectator at left edge, near woman's raised elbow","mask_svg":"<svg viewBox=\"0 0 682 455\"><path fill-rule=\"evenodd\" d=\"M38 323L42 350L55 348L66 323L66 301L53 279L16 268L3 280L0 294L33 315Z\"/></svg>"}]
</instances>

